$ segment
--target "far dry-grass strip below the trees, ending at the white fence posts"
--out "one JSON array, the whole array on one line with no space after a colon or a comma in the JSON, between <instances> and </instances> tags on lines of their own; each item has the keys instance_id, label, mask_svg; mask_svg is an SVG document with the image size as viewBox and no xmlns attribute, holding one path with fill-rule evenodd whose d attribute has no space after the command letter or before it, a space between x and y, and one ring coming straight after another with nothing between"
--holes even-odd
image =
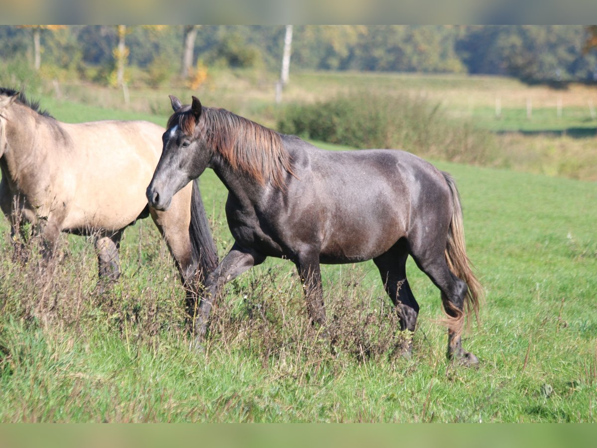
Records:
<instances>
[{"instance_id":1,"label":"far dry-grass strip below the trees, ending at the white fence posts","mask_svg":"<svg viewBox=\"0 0 597 448\"><path fill-rule=\"evenodd\" d=\"M205 105L224 107L257 121L274 118L276 76L254 70L217 70L208 73L207 81L197 90L174 84L158 89L139 87L130 89L131 104L124 105L122 92L91 84L64 84L51 97L87 103L109 109L129 109L168 115L168 94L176 94L190 102L198 96ZM426 97L456 116L482 118L484 127L492 130L513 130L512 121L521 128L533 129L565 127L597 127L597 86L573 84L554 89L544 85L528 86L512 78L500 76L429 75L421 73L362 73L362 72L291 72L290 83L282 95L283 103L318 102L339 93L376 90L387 93L408 93ZM499 103L500 118L496 118ZM558 118L558 104L561 117ZM527 118L527 106L531 118ZM593 111L597 114L597 112ZM274 114L274 115L272 115ZM551 122L543 123L546 119ZM558 122L561 124L558 125ZM592 122L590 124L589 122Z\"/></svg>"}]
</instances>

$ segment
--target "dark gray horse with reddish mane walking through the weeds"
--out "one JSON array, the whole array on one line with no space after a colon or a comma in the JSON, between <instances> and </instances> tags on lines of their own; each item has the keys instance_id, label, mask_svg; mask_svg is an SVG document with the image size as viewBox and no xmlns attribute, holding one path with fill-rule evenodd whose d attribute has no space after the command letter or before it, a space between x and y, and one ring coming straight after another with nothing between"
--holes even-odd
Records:
<instances>
[{"instance_id":1,"label":"dark gray horse with reddish mane walking through the weeds","mask_svg":"<svg viewBox=\"0 0 597 448\"><path fill-rule=\"evenodd\" d=\"M448 356L478 363L462 348L461 332L465 308L477 313L482 288L466 256L460 200L448 174L403 151L322 151L223 109L203 108L195 97L192 106L170 99L174 114L147 188L149 204L166 210L177 191L210 167L229 191L226 217L235 238L205 285L198 342L220 287L268 256L296 264L310 317L319 324L325 323L319 263L373 259L401 329L412 332L419 307L405 271L411 255L441 290Z\"/></svg>"}]
</instances>

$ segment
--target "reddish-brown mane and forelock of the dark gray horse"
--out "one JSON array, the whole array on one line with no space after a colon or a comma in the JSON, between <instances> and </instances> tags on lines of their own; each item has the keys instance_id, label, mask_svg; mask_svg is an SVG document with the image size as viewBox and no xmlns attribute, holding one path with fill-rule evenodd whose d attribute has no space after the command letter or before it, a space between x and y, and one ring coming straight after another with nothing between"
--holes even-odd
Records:
<instances>
[{"instance_id":1,"label":"reddish-brown mane and forelock of the dark gray horse","mask_svg":"<svg viewBox=\"0 0 597 448\"><path fill-rule=\"evenodd\" d=\"M224 109L202 108L197 120L190 108L184 108L168 120L168 128L174 125L189 136L205 139L234 170L250 174L261 185L269 181L283 189L285 173L294 175L281 135L250 119Z\"/></svg>"}]
</instances>

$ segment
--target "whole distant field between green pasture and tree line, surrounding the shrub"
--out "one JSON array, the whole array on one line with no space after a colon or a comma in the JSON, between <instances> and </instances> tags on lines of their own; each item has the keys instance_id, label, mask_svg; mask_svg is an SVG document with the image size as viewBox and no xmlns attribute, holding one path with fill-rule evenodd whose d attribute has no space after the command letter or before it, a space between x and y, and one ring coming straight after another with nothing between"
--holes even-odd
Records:
<instances>
[{"instance_id":1,"label":"whole distant field between green pasture and tree line, surrounding the shrub","mask_svg":"<svg viewBox=\"0 0 597 448\"><path fill-rule=\"evenodd\" d=\"M65 83L58 89L50 84L41 96L29 93L41 97L42 106L64 121L129 117L164 125L171 112L168 94L176 94L187 103L191 95L198 96L204 105L273 128L292 102L313 103L364 90L407 94L438 104L457 122L496 133L498 154L485 165L597 180L596 86L554 89L499 76L291 72L282 104L276 105L276 79L275 73L259 70L211 69L207 81L193 91L180 82L157 89L131 87L129 105L121 91L92 84Z\"/></svg>"}]
</instances>

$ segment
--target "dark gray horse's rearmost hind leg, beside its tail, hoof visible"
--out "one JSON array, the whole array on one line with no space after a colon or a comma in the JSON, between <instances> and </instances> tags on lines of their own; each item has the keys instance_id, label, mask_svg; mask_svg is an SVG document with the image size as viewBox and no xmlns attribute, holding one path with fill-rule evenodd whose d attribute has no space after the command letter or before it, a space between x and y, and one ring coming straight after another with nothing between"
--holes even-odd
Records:
<instances>
[{"instance_id":1,"label":"dark gray horse's rearmost hind leg, beside its tail, hoof visible","mask_svg":"<svg viewBox=\"0 0 597 448\"><path fill-rule=\"evenodd\" d=\"M461 333L464 324L464 298L467 286L464 281L452 274L448 268L443 251L426 251L425 256L413 258L418 267L433 281L442 294L448 320L448 358L455 359L466 366L478 366L478 358L462 348Z\"/></svg>"}]
</instances>

